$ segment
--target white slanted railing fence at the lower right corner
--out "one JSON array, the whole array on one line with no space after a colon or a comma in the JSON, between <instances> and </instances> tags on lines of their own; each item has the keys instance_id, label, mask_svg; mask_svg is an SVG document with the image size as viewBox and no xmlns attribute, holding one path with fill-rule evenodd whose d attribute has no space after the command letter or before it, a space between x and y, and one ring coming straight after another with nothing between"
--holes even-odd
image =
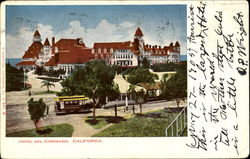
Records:
<instances>
[{"instance_id":1,"label":"white slanted railing fence at the lower right corner","mask_svg":"<svg viewBox=\"0 0 250 159\"><path fill-rule=\"evenodd\" d=\"M187 127L187 106L175 117L172 123L166 128L166 136L180 136Z\"/></svg>"}]
</instances>

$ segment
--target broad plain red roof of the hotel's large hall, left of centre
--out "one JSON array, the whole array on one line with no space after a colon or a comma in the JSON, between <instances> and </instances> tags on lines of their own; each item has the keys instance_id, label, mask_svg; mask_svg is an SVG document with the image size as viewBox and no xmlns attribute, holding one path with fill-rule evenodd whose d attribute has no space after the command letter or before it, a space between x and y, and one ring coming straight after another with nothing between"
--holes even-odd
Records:
<instances>
[{"instance_id":1,"label":"broad plain red roof of the hotel's large hall, left of centre","mask_svg":"<svg viewBox=\"0 0 250 159\"><path fill-rule=\"evenodd\" d=\"M90 60L91 49L74 47L68 52L58 52L59 64L85 63Z\"/></svg>"}]
</instances>

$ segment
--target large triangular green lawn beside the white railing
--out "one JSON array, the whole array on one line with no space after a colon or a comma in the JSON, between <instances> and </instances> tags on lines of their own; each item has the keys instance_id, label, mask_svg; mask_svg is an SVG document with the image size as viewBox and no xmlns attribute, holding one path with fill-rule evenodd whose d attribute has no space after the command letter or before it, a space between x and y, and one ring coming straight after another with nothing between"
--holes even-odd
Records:
<instances>
[{"instance_id":1,"label":"large triangular green lawn beside the white railing","mask_svg":"<svg viewBox=\"0 0 250 159\"><path fill-rule=\"evenodd\" d=\"M160 110L136 115L121 121L97 133L94 137L163 137L166 127L174 120L178 112ZM185 135L185 132L182 134Z\"/></svg>"}]
</instances>

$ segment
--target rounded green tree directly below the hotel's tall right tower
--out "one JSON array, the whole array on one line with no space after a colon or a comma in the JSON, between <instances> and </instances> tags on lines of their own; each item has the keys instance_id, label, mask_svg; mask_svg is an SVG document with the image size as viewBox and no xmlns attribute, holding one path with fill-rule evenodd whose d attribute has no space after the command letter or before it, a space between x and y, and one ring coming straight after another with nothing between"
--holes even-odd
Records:
<instances>
[{"instance_id":1,"label":"rounded green tree directly below the hotel's tall right tower","mask_svg":"<svg viewBox=\"0 0 250 159\"><path fill-rule=\"evenodd\" d=\"M155 80L158 78L157 74L153 74L148 69L142 67L128 74L128 82L133 85L142 84L146 89L145 100L147 100L148 92L152 89Z\"/></svg>"}]
</instances>

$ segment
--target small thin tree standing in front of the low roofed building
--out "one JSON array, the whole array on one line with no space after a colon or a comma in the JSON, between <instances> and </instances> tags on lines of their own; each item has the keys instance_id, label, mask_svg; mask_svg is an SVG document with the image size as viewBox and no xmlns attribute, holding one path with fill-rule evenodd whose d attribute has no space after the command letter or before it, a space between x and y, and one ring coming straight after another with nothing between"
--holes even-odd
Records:
<instances>
[{"instance_id":1,"label":"small thin tree standing in front of the low roofed building","mask_svg":"<svg viewBox=\"0 0 250 159\"><path fill-rule=\"evenodd\" d=\"M140 114L142 114L142 103L145 99L145 92L143 89L136 90L135 85L130 85L128 92L132 95L133 99L140 107Z\"/></svg>"}]
</instances>

